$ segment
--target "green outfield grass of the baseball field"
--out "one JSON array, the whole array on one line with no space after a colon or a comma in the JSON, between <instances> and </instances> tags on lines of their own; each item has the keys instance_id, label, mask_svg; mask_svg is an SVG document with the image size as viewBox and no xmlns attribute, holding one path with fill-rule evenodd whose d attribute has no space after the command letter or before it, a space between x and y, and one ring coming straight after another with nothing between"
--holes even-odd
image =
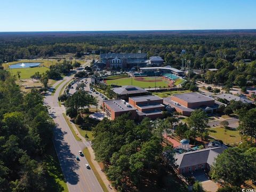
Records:
<instances>
[{"instance_id":1,"label":"green outfield grass of the baseball field","mask_svg":"<svg viewBox=\"0 0 256 192\"><path fill-rule=\"evenodd\" d=\"M155 81L155 77L143 77L145 78L146 81ZM161 80L159 82L156 82L156 87L168 87L170 84L170 81L167 79L163 79L162 77L156 77L157 80ZM148 87L155 87L155 82L142 82L142 81L137 81L136 78L134 77L126 77L126 78L120 78L120 79L111 79L111 80L106 80L106 83L108 85L134 85L134 86L139 86L142 88L148 88Z\"/></svg>"}]
</instances>

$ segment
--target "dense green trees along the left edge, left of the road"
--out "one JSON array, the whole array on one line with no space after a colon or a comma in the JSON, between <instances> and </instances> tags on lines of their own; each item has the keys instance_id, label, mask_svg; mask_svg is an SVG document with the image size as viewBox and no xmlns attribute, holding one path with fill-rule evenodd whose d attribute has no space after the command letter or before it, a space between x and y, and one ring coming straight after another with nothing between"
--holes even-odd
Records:
<instances>
[{"instance_id":1,"label":"dense green trees along the left edge, left of the road","mask_svg":"<svg viewBox=\"0 0 256 192\"><path fill-rule=\"evenodd\" d=\"M52 145L54 123L37 90L23 95L0 70L0 191L47 191L43 156Z\"/></svg>"}]
</instances>

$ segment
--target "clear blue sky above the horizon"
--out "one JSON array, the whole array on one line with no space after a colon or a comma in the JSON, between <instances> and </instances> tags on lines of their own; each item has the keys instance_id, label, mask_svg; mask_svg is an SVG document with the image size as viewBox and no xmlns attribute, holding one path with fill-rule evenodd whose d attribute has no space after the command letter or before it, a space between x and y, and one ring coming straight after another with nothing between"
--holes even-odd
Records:
<instances>
[{"instance_id":1,"label":"clear blue sky above the horizon","mask_svg":"<svg viewBox=\"0 0 256 192\"><path fill-rule=\"evenodd\" d=\"M255 0L0 0L0 31L255 29Z\"/></svg>"}]
</instances>

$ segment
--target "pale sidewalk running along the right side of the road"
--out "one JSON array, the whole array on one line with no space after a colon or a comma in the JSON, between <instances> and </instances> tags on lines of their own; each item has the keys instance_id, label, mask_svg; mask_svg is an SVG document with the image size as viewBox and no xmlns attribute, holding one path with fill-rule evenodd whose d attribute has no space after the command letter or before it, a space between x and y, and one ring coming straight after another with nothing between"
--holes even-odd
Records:
<instances>
[{"instance_id":1,"label":"pale sidewalk running along the right side of the road","mask_svg":"<svg viewBox=\"0 0 256 192\"><path fill-rule=\"evenodd\" d=\"M69 118L68 118L69 119ZM70 119L69 119L70 121ZM94 155L94 151L91 147L91 143L89 141L86 141L86 139L84 137L82 137L82 135L79 133L79 131L76 129L76 126L74 125L74 123L72 123L70 121L71 125L73 126L73 129L75 130L76 132L76 135L82 139L82 142L84 143L84 145L87 147L87 149L89 150L89 153L91 155L91 161L95 167L95 169L97 170L98 174L100 175L103 183L105 184L106 188L108 189L108 191L110 192L113 192L113 191L116 191L114 189L113 186L111 186L111 183L109 182L109 180L107 179L107 176L105 175L105 173L103 171L101 171L101 167L100 165L98 164L97 161L95 161L95 155Z\"/></svg>"}]
</instances>

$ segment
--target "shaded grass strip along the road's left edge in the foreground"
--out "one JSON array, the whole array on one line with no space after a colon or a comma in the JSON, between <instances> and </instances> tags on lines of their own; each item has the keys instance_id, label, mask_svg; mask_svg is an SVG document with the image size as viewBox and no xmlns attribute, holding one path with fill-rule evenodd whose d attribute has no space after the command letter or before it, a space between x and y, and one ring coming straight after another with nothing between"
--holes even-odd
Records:
<instances>
[{"instance_id":1,"label":"shaded grass strip along the road's left edge in the foreground","mask_svg":"<svg viewBox=\"0 0 256 192\"><path fill-rule=\"evenodd\" d=\"M68 192L67 183L62 174L60 162L55 152L53 143L44 155L44 163L47 169L47 183L49 188L46 191L64 191Z\"/></svg>"}]
</instances>

